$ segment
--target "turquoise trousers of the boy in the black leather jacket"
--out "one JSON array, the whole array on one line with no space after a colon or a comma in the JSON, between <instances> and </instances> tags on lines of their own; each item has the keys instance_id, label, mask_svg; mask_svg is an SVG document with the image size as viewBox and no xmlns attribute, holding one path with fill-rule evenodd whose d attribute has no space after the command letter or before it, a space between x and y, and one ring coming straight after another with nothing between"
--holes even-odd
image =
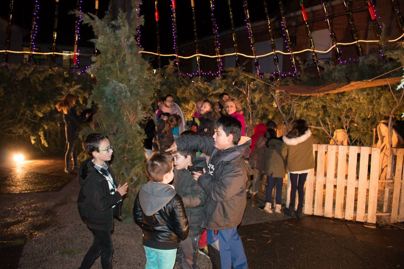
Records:
<instances>
[{"instance_id":1,"label":"turquoise trousers of the boy in the black leather jacket","mask_svg":"<svg viewBox=\"0 0 404 269\"><path fill-rule=\"evenodd\" d=\"M146 267L145 269L173 269L175 264L175 249L156 249L148 246L143 246L146 252Z\"/></svg>"}]
</instances>

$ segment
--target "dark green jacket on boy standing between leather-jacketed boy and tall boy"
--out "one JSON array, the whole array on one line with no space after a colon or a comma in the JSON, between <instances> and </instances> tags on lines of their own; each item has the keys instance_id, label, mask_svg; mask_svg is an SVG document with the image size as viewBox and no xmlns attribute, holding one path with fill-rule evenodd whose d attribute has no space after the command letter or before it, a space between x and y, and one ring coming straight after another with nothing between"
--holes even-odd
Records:
<instances>
[{"instance_id":1,"label":"dark green jacket on boy standing between leather-jacketed boy and tall boy","mask_svg":"<svg viewBox=\"0 0 404 269\"><path fill-rule=\"evenodd\" d=\"M194 166L207 169L206 159L196 158ZM202 208L207 199L205 192L194 180L194 175L185 168L175 171L173 186L184 202L190 227L188 236L199 236L202 233L200 227Z\"/></svg>"}]
</instances>

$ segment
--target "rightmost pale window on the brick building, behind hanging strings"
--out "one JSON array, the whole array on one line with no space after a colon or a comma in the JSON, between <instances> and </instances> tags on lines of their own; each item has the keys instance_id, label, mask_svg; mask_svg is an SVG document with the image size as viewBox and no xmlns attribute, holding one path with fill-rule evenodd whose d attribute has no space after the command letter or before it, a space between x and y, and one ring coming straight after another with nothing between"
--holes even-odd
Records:
<instances>
[{"instance_id":1,"label":"rightmost pale window on the brick building, behind hanging strings","mask_svg":"<svg viewBox=\"0 0 404 269\"><path fill-rule=\"evenodd\" d=\"M313 32L311 32L311 37L314 40L314 48L316 50L325 51L325 50L328 50L332 46L330 30L328 30L328 29L313 31ZM309 43L308 47L310 48L310 43ZM309 65L314 64L313 54L311 52L309 52L308 58L309 58ZM321 53L317 52L317 58L319 60L322 60L323 62L331 61L332 60L332 50L330 50L329 52L327 52L325 54L321 54Z\"/></svg>"}]
</instances>

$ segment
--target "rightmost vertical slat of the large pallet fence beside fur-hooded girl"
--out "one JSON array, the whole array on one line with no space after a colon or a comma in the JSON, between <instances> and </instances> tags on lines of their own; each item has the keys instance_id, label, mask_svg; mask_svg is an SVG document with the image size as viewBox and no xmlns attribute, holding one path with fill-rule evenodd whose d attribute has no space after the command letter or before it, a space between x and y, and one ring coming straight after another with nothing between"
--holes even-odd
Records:
<instances>
[{"instance_id":1,"label":"rightmost vertical slat of the large pallet fence beside fur-hooded girl","mask_svg":"<svg viewBox=\"0 0 404 269\"><path fill-rule=\"evenodd\" d=\"M368 179L370 148L362 147L359 162L358 199L356 200L356 221L365 221L366 180ZM378 172L379 174L379 172Z\"/></svg>"}]
</instances>

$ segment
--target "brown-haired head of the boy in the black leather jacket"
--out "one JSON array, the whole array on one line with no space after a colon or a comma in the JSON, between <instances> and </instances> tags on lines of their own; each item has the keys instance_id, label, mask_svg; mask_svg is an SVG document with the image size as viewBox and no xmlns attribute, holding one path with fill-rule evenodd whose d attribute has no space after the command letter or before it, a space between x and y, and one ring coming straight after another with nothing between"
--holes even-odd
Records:
<instances>
[{"instance_id":1,"label":"brown-haired head of the boy in the black leather jacket","mask_svg":"<svg viewBox=\"0 0 404 269\"><path fill-rule=\"evenodd\" d=\"M154 182L163 181L164 175L173 169L173 160L171 154L160 151L153 152L146 162L147 175Z\"/></svg>"}]
</instances>

